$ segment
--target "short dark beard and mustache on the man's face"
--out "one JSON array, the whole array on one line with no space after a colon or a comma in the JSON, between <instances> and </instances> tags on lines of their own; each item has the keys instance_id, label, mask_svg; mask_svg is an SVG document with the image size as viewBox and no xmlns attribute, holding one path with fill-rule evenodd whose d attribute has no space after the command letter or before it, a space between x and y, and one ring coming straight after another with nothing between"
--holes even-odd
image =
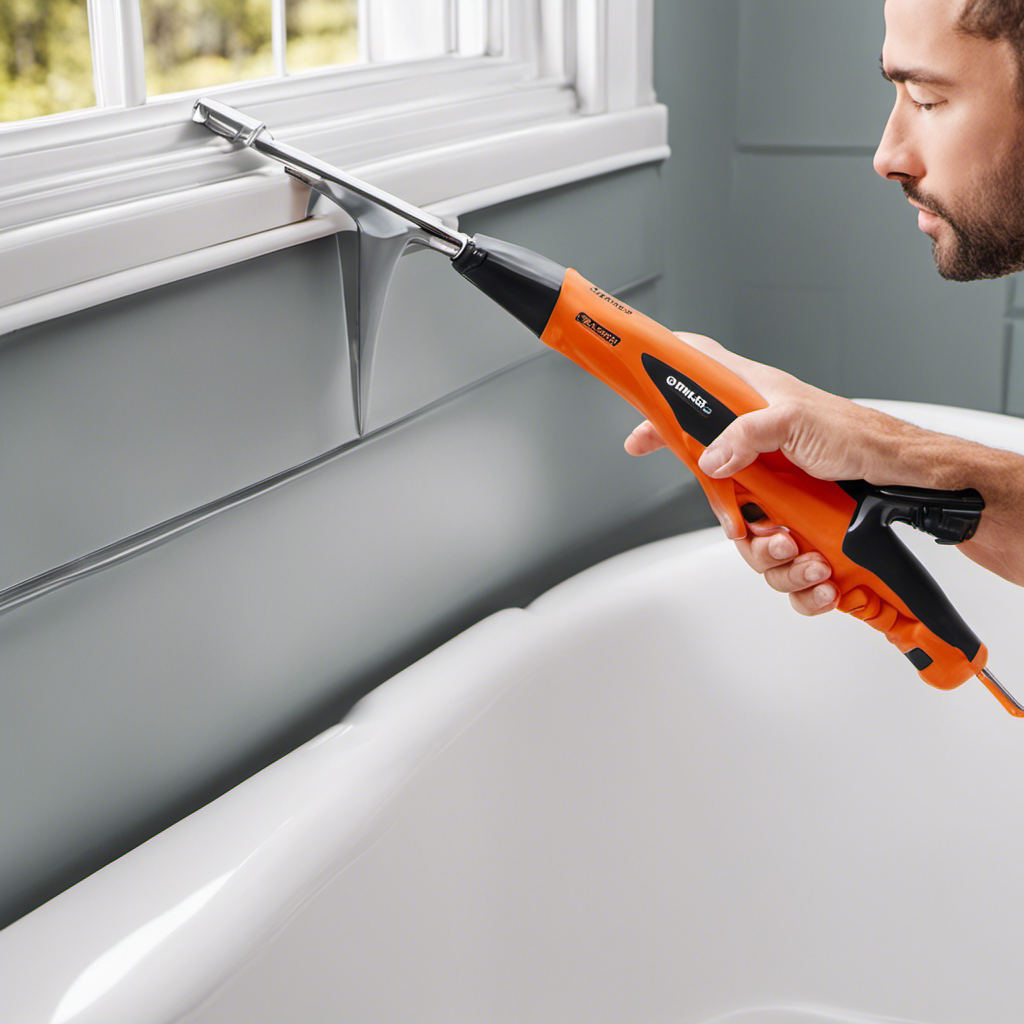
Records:
<instances>
[{"instance_id":1,"label":"short dark beard and mustache on the man's face","mask_svg":"<svg viewBox=\"0 0 1024 1024\"><path fill-rule=\"evenodd\" d=\"M995 171L984 187L971 190L953 213L934 196L904 183L907 199L944 220L951 245L932 239L935 266L946 281L1002 278L1024 270L1024 148L1017 146L1008 166Z\"/></svg>"}]
</instances>

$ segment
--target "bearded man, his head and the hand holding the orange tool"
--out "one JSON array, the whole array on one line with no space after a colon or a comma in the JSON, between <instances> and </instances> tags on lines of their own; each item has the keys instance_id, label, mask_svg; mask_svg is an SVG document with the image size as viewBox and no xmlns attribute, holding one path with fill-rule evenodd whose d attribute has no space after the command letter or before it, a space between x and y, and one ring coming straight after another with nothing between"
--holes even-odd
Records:
<instances>
[{"instance_id":1,"label":"bearded man, his head and the hand holding the orange tool","mask_svg":"<svg viewBox=\"0 0 1024 1024\"><path fill-rule=\"evenodd\" d=\"M885 0L882 73L896 102L874 170L897 182L932 240L943 278L974 281L1024 269L1024 0ZM874 484L975 487L985 511L969 558L1024 585L1024 457L932 433L855 406L710 338L680 335L752 384L769 402L735 420L700 459L727 477L781 450L812 476ZM664 442L650 423L631 455ZM797 554L784 523L723 522L746 562L803 614L839 603L831 567Z\"/></svg>"}]
</instances>

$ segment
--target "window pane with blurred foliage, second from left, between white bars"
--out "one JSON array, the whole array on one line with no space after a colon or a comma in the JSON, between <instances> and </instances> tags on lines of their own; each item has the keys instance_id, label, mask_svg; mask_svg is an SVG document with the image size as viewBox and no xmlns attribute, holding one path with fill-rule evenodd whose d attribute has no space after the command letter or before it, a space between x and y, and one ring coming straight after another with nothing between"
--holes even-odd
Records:
<instances>
[{"instance_id":1,"label":"window pane with blurred foliage, second from left, between white bars","mask_svg":"<svg viewBox=\"0 0 1024 1024\"><path fill-rule=\"evenodd\" d=\"M274 74L271 0L141 0L146 92Z\"/></svg>"}]
</instances>

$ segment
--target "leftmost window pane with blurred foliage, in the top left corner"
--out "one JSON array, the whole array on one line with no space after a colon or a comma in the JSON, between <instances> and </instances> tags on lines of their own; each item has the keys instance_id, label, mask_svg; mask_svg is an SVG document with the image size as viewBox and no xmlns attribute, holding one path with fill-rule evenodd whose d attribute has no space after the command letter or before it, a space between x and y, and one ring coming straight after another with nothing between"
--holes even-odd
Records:
<instances>
[{"instance_id":1,"label":"leftmost window pane with blurred foliage, in the top left corner","mask_svg":"<svg viewBox=\"0 0 1024 1024\"><path fill-rule=\"evenodd\" d=\"M96 105L86 0L0 0L0 121Z\"/></svg>"}]
</instances>

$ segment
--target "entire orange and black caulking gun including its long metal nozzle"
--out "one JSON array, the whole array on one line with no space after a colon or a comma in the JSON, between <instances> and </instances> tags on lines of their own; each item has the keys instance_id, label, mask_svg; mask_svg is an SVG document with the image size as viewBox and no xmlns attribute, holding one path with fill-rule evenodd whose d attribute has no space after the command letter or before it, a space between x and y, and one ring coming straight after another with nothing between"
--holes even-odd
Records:
<instances>
[{"instance_id":1,"label":"entire orange and black caulking gun including its long metal nozzle","mask_svg":"<svg viewBox=\"0 0 1024 1024\"><path fill-rule=\"evenodd\" d=\"M737 416L763 409L744 381L672 332L585 281L575 270L519 246L472 238L418 207L276 141L266 125L219 100L201 98L193 120L285 165L343 209L375 204L416 227L414 241L453 267L552 348L617 391L653 423L689 467L712 507L734 532L753 504L790 529L801 551L833 566L840 608L884 633L940 689L977 675L1011 714L1018 703L985 668L988 652L924 566L889 528L908 522L940 543L968 540L984 502L974 490L874 487L863 480L818 480L781 453L714 480L697 468L703 450Z\"/></svg>"}]
</instances>

